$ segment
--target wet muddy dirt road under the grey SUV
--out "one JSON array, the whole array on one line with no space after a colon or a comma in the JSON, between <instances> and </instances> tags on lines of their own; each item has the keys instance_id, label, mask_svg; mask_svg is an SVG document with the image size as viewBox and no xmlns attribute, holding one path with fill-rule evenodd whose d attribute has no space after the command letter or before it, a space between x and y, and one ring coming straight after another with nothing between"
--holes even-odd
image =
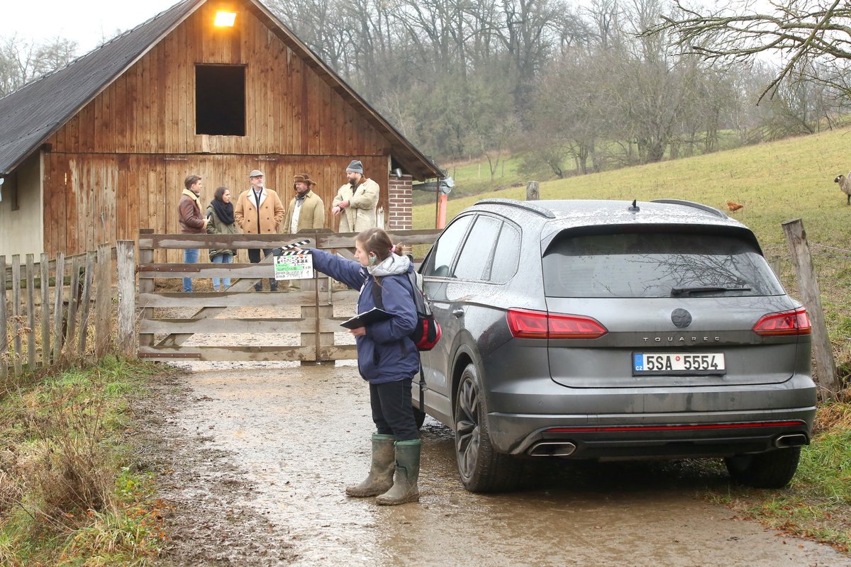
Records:
<instances>
[{"instance_id":1,"label":"wet muddy dirt road under the grey SUV","mask_svg":"<svg viewBox=\"0 0 851 567\"><path fill-rule=\"evenodd\" d=\"M728 479L693 464L536 463L518 493L470 494L431 419L419 504L346 498L373 431L357 368L219 366L163 378L139 411L174 504L163 565L851 566L702 502Z\"/></svg>"}]
</instances>

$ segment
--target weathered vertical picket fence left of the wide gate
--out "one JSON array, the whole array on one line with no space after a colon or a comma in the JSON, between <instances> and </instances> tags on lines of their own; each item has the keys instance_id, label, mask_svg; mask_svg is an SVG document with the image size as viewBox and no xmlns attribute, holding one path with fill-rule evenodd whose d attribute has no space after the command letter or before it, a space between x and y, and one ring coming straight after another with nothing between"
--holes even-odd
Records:
<instances>
[{"instance_id":1,"label":"weathered vertical picket fence left of the wide gate","mask_svg":"<svg viewBox=\"0 0 851 567\"><path fill-rule=\"evenodd\" d=\"M0 256L0 378L98 359L111 349L134 354L135 289L119 290L115 301L112 286L118 280L114 266L126 271L129 263L132 277L134 243L118 251L105 244L53 260L43 253L38 262L33 254L23 262L19 255L9 261Z\"/></svg>"}]
</instances>

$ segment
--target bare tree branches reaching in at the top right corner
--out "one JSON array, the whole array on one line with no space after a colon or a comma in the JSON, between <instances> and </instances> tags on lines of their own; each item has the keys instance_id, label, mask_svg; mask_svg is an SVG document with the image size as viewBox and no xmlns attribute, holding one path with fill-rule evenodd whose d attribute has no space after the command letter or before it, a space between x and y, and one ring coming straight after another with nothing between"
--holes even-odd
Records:
<instances>
[{"instance_id":1,"label":"bare tree branches reaching in at the top right corner","mask_svg":"<svg viewBox=\"0 0 851 567\"><path fill-rule=\"evenodd\" d=\"M676 5L677 15L663 16L643 36L672 32L673 43L681 48L723 63L751 61L758 54L779 56L783 63L759 100L792 77L799 65L808 63L830 66L833 79L823 77L851 97L843 80L851 67L848 0L780 0L768 4L768 12L757 12L751 0L717 11L688 7L681 0Z\"/></svg>"}]
</instances>

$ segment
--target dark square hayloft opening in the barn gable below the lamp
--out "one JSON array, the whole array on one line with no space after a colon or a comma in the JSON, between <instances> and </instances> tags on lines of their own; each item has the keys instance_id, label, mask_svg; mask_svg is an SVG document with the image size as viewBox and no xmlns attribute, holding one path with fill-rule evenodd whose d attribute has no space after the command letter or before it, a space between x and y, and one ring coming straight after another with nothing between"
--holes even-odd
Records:
<instances>
[{"instance_id":1,"label":"dark square hayloft opening in the barn gable below the lamp","mask_svg":"<svg viewBox=\"0 0 851 567\"><path fill-rule=\"evenodd\" d=\"M195 65L195 133L245 135L244 65Z\"/></svg>"}]
</instances>

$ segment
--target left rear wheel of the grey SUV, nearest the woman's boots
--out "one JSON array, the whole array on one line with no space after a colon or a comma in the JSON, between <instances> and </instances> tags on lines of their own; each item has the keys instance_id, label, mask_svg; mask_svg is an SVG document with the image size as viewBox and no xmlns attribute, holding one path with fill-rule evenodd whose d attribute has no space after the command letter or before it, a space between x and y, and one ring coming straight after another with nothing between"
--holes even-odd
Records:
<instances>
[{"instance_id":1,"label":"left rear wheel of the grey SUV, nearest the woman's boots","mask_svg":"<svg viewBox=\"0 0 851 567\"><path fill-rule=\"evenodd\" d=\"M466 490L507 492L520 483L523 463L494 451L488 435L488 410L476 366L467 365L455 396L455 458Z\"/></svg>"}]
</instances>

